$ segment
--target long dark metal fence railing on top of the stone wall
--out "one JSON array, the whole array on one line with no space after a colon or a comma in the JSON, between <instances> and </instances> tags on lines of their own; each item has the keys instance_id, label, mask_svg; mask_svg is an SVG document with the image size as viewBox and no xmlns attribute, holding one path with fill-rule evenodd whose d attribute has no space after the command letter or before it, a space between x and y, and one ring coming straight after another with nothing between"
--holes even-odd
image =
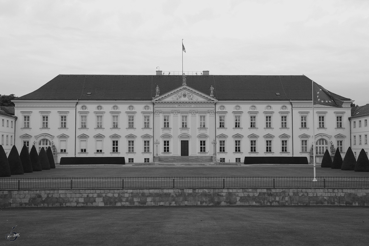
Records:
<instances>
[{"instance_id":1,"label":"long dark metal fence railing on top of the stone wall","mask_svg":"<svg viewBox=\"0 0 369 246\"><path fill-rule=\"evenodd\" d=\"M0 190L134 188L369 188L369 177L42 177L0 179Z\"/></svg>"}]
</instances>

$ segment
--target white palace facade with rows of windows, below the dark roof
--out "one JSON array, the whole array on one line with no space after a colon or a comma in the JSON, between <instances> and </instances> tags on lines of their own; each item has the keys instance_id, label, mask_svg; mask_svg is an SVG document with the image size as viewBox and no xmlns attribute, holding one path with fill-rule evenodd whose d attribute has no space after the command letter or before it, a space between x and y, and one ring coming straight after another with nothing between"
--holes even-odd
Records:
<instances>
[{"instance_id":1,"label":"white palace facade with rows of windows, below the dark roof","mask_svg":"<svg viewBox=\"0 0 369 246\"><path fill-rule=\"evenodd\" d=\"M15 144L41 149L54 143L58 163L74 156L124 156L136 163L153 162L156 154L213 156L214 140L221 162L245 156L310 160L313 141L323 154L331 142L341 146L344 157L351 102L315 105L313 123L311 101L218 101L189 86L153 100L14 100Z\"/></svg>"}]
</instances>

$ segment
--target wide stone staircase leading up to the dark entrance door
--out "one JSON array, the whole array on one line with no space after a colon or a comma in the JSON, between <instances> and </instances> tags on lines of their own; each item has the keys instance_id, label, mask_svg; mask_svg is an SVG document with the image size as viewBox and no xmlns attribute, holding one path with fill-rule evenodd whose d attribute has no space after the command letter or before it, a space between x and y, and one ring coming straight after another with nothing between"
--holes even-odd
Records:
<instances>
[{"instance_id":1,"label":"wide stone staircase leading up to the dark entrance door","mask_svg":"<svg viewBox=\"0 0 369 246\"><path fill-rule=\"evenodd\" d=\"M159 166L215 166L212 156L159 156Z\"/></svg>"}]
</instances>

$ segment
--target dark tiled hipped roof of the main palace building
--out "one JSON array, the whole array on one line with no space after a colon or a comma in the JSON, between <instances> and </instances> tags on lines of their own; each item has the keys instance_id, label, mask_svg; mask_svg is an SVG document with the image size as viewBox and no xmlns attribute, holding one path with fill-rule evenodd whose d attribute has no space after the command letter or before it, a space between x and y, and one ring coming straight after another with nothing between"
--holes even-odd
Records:
<instances>
[{"instance_id":1,"label":"dark tiled hipped roof of the main palace building","mask_svg":"<svg viewBox=\"0 0 369 246\"><path fill-rule=\"evenodd\" d=\"M181 75L58 75L17 100L151 100L182 86ZM311 100L311 79L304 75L187 76L187 86L204 94L215 88L218 100ZM91 96L86 94L91 92ZM280 93L280 96L276 96ZM350 100L337 94L341 100Z\"/></svg>"}]
</instances>

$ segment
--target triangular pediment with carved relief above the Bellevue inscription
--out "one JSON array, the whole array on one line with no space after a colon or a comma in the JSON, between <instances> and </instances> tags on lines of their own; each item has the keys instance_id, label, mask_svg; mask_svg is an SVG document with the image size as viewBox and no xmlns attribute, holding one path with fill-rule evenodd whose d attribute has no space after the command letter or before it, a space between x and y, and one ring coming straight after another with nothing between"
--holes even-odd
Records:
<instances>
[{"instance_id":1,"label":"triangular pediment with carved relief above the Bellevue inscription","mask_svg":"<svg viewBox=\"0 0 369 246\"><path fill-rule=\"evenodd\" d=\"M210 88L209 88L210 91ZM216 102L214 97L210 97L189 86L181 86L168 93L158 96L152 100L153 102Z\"/></svg>"}]
</instances>

